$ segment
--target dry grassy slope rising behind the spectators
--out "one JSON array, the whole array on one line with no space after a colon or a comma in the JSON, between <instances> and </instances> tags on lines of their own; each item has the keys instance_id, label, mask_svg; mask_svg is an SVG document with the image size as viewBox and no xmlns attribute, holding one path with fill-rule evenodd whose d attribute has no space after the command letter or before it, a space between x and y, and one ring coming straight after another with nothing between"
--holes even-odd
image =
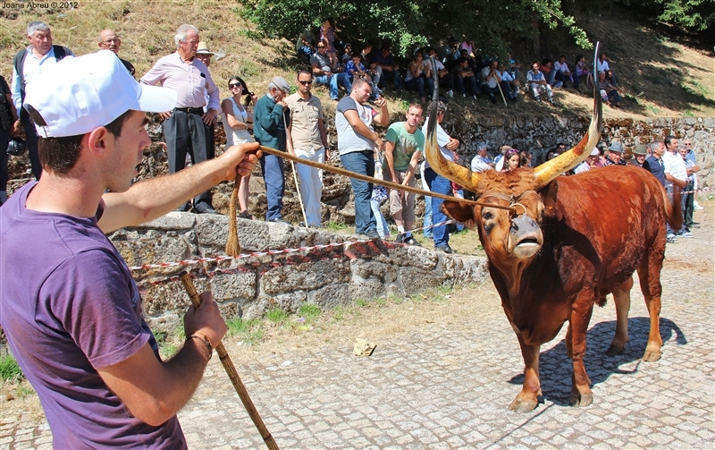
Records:
<instances>
[{"instance_id":1,"label":"dry grassy slope rising behind the spectators","mask_svg":"<svg viewBox=\"0 0 715 450\"><path fill-rule=\"evenodd\" d=\"M189 21L201 30L201 38L209 43L209 47L226 54L211 66L214 80L222 89L222 98L228 95L225 82L233 73L242 75L259 95L274 75L282 75L295 84L293 73L298 65L292 58L292 44L284 40L252 38L253 26L241 18L240 11L240 6L235 3L213 0L194 2L190 8L178 1L82 2L77 10L35 11L21 13L14 19L4 10L0 17L0 74L9 81L12 56L27 42L25 27L29 21L38 18L50 23L55 44L71 47L78 55L97 49L99 30L114 28L122 37L122 57L132 61L139 75L147 72L158 57L174 50L174 30L182 22ZM715 57L711 52L672 42L623 14L612 15L615 17L608 20L605 15L595 14L581 18L589 36L601 40L610 56L612 69L625 88L625 108L605 108L606 117L715 115ZM567 38L558 37L548 42L543 39L542 48L544 55L555 57L560 52L565 53L569 62L577 53L589 53L574 47ZM516 50L514 53L520 55L526 67L529 56ZM316 93L329 102L324 89L316 89ZM522 99L517 106L518 112L590 114L591 101L586 94L559 89L556 98L563 106L560 110ZM403 93L391 99L391 111L397 111L414 97ZM517 110L514 106L509 109L497 107L502 113ZM476 104L461 98L452 102L452 110L466 117L488 115L493 108L484 100Z\"/></svg>"}]
</instances>

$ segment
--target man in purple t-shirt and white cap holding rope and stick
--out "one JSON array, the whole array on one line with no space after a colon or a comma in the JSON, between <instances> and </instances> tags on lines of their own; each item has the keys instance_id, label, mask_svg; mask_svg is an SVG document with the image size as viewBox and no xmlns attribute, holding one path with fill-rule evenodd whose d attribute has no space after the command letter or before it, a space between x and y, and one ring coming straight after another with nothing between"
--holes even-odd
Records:
<instances>
[{"instance_id":1,"label":"man in purple t-shirt and white cap holding rope and stick","mask_svg":"<svg viewBox=\"0 0 715 450\"><path fill-rule=\"evenodd\" d=\"M162 361L139 289L106 233L250 174L257 157L246 151L257 144L132 184L151 143L144 112L171 111L176 101L172 89L140 85L108 50L55 64L25 98L43 174L0 208L0 326L55 448L186 447L176 413L226 325L201 294L184 316L186 342Z\"/></svg>"}]
</instances>

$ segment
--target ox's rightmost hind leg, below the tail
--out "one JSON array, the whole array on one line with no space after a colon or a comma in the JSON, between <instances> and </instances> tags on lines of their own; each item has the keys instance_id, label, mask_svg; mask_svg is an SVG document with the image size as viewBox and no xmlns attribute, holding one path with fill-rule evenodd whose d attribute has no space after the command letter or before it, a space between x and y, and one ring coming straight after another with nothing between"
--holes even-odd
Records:
<instances>
[{"instance_id":1,"label":"ox's rightmost hind leg, below the tail","mask_svg":"<svg viewBox=\"0 0 715 450\"><path fill-rule=\"evenodd\" d=\"M660 269L662 267L662 252L652 252L641 267L638 267L645 307L651 318L651 332L648 334L648 345L645 347L643 361L658 361L662 354L660 352L660 347L663 346L663 339L660 337L660 294L663 291L660 284Z\"/></svg>"}]
</instances>

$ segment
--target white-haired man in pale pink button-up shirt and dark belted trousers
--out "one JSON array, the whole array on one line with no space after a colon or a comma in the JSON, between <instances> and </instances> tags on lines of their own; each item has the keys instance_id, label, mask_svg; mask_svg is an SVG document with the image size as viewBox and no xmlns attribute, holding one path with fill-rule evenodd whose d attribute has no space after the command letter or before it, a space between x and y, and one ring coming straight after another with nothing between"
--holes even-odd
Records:
<instances>
[{"instance_id":1,"label":"white-haired man in pale pink button-up shirt and dark belted trousers","mask_svg":"<svg viewBox=\"0 0 715 450\"><path fill-rule=\"evenodd\" d=\"M196 57L198 29L183 24L174 36L176 52L159 58L139 82L176 91L179 100L172 111L161 113L164 119L164 140L169 153L169 173L179 172L186 166L186 155L193 157L194 164L208 159L206 154L206 127L214 123L219 109L219 91L208 72L206 64ZM206 103L205 92L209 101ZM207 106L204 112L204 106ZM189 199L184 199L189 200ZM177 210L188 211L190 201L185 201ZM193 211L198 214L216 214L211 205L211 192L201 192L193 200Z\"/></svg>"}]
</instances>

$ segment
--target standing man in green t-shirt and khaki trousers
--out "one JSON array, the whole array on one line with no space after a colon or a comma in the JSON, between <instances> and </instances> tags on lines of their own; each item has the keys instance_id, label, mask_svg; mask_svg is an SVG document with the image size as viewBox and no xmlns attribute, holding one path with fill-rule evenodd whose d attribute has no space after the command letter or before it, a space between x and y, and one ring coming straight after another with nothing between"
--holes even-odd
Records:
<instances>
[{"instance_id":1,"label":"standing man in green t-shirt and khaki trousers","mask_svg":"<svg viewBox=\"0 0 715 450\"><path fill-rule=\"evenodd\" d=\"M425 134L417 129L417 125L422 122L422 106L409 106L407 119L405 122L392 123L387 130L383 178L403 186L415 186L415 168L425 149ZM391 190L390 214L399 232L397 242L419 245L412 237L415 194Z\"/></svg>"}]
</instances>

